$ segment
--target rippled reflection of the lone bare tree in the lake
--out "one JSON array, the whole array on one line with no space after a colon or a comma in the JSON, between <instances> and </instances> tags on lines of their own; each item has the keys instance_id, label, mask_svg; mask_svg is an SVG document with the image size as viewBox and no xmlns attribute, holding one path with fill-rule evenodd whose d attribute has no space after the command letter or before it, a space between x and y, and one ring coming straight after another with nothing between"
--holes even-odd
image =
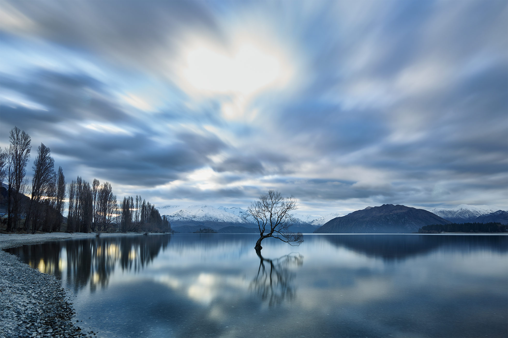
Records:
<instances>
[{"instance_id":1,"label":"rippled reflection of the lone bare tree in the lake","mask_svg":"<svg viewBox=\"0 0 508 338\"><path fill-rule=\"evenodd\" d=\"M257 252L260 258L258 275L250 283L253 290L269 306L280 305L284 299L291 301L295 298L296 289L292 285L295 273L291 267L300 267L303 256L299 253L290 253L276 259L268 259Z\"/></svg>"}]
</instances>

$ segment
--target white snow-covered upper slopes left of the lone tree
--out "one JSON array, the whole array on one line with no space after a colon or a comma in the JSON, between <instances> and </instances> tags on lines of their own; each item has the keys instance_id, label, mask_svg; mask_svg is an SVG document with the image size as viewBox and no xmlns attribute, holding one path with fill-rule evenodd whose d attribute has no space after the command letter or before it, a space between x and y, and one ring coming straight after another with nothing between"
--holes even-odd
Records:
<instances>
[{"instance_id":1,"label":"white snow-covered upper slopes left of the lone tree","mask_svg":"<svg viewBox=\"0 0 508 338\"><path fill-rule=\"evenodd\" d=\"M159 208L161 213L168 216L169 221L211 221L227 223L245 223L241 217L209 205L166 206Z\"/></svg>"}]
</instances>

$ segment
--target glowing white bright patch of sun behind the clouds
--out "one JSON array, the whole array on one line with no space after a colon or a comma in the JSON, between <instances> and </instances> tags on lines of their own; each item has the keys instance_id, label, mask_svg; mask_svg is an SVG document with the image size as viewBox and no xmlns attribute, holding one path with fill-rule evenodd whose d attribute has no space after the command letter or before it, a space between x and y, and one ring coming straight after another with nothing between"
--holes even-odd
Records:
<instances>
[{"instance_id":1,"label":"glowing white bright patch of sun behind the clouds","mask_svg":"<svg viewBox=\"0 0 508 338\"><path fill-rule=\"evenodd\" d=\"M280 61L250 44L232 55L199 47L188 53L186 61L186 80L196 89L215 93L252 94L280 75Z\"/></svg>"}]
</instances>

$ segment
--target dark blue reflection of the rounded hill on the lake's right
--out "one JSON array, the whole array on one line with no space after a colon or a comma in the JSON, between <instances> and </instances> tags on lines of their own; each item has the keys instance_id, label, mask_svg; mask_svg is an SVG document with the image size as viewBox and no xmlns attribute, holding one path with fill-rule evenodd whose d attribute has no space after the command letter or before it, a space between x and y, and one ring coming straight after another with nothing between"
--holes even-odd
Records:
<instances>
[{"instance_id":1,"label":"dark blue reflection of the rounded hill on the lake's right","mask_svg":"<svg viewBox=\"0 0 508 338\"><path fill-rule=\"evenodd\" d=\"M468 252L488 249L508 251L508 236L446 235L329 235L325 239L337 247L383 259L405 259L448 248Z\"/></svg>"}]
</instances>

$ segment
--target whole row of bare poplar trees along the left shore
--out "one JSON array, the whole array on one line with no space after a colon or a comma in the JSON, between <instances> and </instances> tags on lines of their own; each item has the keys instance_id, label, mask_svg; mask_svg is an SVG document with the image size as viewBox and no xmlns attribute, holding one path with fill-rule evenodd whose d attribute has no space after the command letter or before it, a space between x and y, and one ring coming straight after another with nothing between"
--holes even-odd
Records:
<instances>
[{"instance_id":1,"label":"whole row of bare poplar trees along the left shore","mask_svg":"<svg viewBox=\"0 0 508 338\"><path fill-rule=\"evenodd\" d=\"M166 216L140 196L124 197L117 204L109 182L92 184L77 177L66 184L61 167L54 170L50 149L37 148L32 169L31 190L25 178L30 158L30 136L17 127L10 131L10 145L0 149L0 182L7 178L7 232L62 231L63 211L69 198L67 232L171 230ZM29 200L25 194L30 194ZM27 201L28 200L28 201ZM23 222L23 215L24 222ZM4 219L3 219L4 221Z\"/></svg>"}]
</instances>

